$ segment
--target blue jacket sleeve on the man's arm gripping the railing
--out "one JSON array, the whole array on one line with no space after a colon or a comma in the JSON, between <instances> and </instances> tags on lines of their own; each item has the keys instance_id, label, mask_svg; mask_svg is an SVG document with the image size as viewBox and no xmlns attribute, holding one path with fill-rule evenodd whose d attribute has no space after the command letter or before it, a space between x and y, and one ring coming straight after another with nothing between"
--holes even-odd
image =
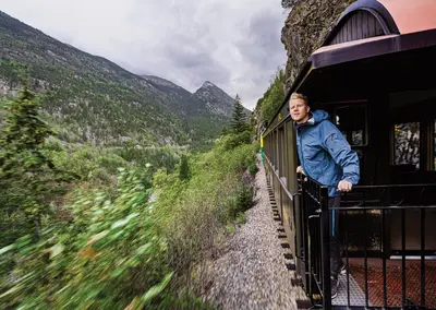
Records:
<instances>
[{"instance_id":1,"label":"blue jacket sleeve on the man's arm gripping the railing","mask_svg":"<svg viewBox=\"0 0 436 310\"><path fill-rule=\"evenodd\" d=\"M341 180L356 184L360 179L358 154L351 150L347 139L330 121L323 122L322 145L332 159L342 167Z\"/></svg>"}]
</instances>

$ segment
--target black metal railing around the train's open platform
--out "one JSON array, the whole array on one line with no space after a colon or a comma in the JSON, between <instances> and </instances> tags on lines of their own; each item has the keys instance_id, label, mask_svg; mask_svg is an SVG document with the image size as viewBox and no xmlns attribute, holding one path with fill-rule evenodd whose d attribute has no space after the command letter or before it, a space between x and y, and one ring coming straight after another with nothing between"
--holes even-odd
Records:
<instances>
[{"instance_id":1,"label":"black metal railing around the train's open platform","mask_svg":"<svg viewBox=\"0 0 436 310\"><path fill-rule=\"evenodd\" d=\"M306 270L306 274L301 276L306 277L305 288L310 297L320 294L324 309L339 306L347 307L346 309L354 307L431 309L436 307L436 301L429 301L433 303L426 305L426 297L435 294L426 289L426 285L431 283L426 278L428 262L426 259L427 255L436 254L436 247L432 248L434 242L427 245L436 229L427 229L431 218L426 218L426 214L436 219L434 216L436 184L358 186L352 192L341 195L340 206L329 205L328 187L301 174L298 175L298 184L302 199L301 216L298 220L302 222L299 225L302 229L296 234L302 235L301 251L305 253ZM340 217L339 223L335 224L341 224L340 240L343 246L342 260L344 260L347 274L341 277L342 300L332 303L330 235L331 227L335 225L332 224L335 213L339 213ZM433 224L436 226L435 222ZM413 240L410 240L413 234L415 236ZM398 264L396 266L400 276L388 273L388 266L393 262L391 257L396 254L401 260L400 266ZM408 255L413 255L413 262L420 262L417 285L408 283L407 275L414 276L407 273L410 264ZM410 272L416 273L416 271ZM354 279L353 273L360 277L360 281ZM388 293L388 283L393 277L401 283L401 300L391 298L392 288L389 288ZM382 279L382 283L374 278ZM436 278L432 281L436 282ZM353 301L355 290L359 290L361 295L359 305ZM374 291L382 293L378 294L382 298L375 298Z\"/></svg>"}]
</instances>

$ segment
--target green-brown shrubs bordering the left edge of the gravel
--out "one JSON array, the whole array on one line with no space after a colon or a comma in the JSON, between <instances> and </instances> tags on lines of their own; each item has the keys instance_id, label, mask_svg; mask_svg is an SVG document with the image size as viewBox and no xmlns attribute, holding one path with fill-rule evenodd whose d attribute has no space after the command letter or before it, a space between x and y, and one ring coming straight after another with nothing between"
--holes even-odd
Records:
<instances>
[{"instance_id":1,"label":"green-brown shrubs bordering the left edge of the gravel","mask_svg":"<svg viewBox=\"0 0 436 310\"><path fill-rule=\"evenodd\" d=\"M154 186L159 189L155 207L168 240L168 262L180 285L199 283L201 287L207 277L197 275L193 279L193 270L202 270L230 233L229 227L243 223L244 211L253 204L253 189L243 184L241 176L254 163L254 146L241 144L228 151L216 147L191 159L187 181L181 181L179 172L155 174Z\"/></svg>"}]
</instances>

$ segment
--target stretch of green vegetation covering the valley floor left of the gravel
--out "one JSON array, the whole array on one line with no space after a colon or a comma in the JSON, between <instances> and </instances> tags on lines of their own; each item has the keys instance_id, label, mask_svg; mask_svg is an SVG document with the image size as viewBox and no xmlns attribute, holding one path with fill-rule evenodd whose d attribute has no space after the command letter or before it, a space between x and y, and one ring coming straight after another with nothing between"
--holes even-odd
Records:
<instances>
[{"instance_id":1,"label":"stretch of green vegetation covering the valley floor left of the gravel","mask_svg":"<svg viewBox=\"0 0 436 310\"><path fill-rule=\"evenodd\" d=\"M68 143L29 108L40 98L27 96L2 110L3 163L40 162L14 166L4 170L13 177L1 179L2 205L9 206L0 219L7 231L0 238L1 308L211 309L199 298L209 281L205 266L253 203L252 184L242 178L255 172L250 132L229 133L196 154L132 142ZM20 115L32 116L32 131L14 126L29 121ZM58 172L74 178L53 186ZM39 179L50 180L47 190L31 187ZM44 206L39 234L24 198Z\"/></svg>"}]
</instances>

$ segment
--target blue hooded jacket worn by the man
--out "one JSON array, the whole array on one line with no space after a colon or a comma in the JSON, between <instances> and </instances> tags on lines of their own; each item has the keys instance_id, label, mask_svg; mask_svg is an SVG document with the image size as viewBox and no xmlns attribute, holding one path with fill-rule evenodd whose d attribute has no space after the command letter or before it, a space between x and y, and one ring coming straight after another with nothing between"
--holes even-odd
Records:
<instances>
[{"instance_id":1,"label":"blue hooded jacket worn by the man","mask_svg":"<svg viewBox=\"0 0 436 310\"><path fill-rule=\"evenodd\" d=\"M310 112L310 119L296 129L296 148L300 165L312 179L325 186L334 186L329 196L338 196L340 180L356 184L360 179L359 157L350 144L323 110Z\"/></svg>"}]
</instances>

